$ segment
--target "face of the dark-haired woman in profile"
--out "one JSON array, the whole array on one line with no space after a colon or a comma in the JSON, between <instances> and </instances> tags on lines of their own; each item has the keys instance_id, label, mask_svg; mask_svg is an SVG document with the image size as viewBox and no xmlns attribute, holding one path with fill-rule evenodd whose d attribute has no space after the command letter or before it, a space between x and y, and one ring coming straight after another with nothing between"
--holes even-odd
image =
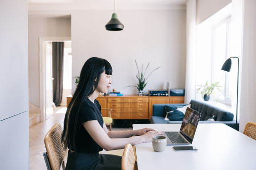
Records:
<instances>
[{"instance_id":1,"label":"face of the dark-haired woman in profile","mask_svg":"<svg viewBox=\"0 0 256 170\"><path fill-rule=\"evenodd\" d=\"M104 71L100 76L100 80L99 80L98 86L96 88L96 91L99 93L100 92L107 93L110 88L111 83L112 83L111 75L106 74Z\"/></svg>"}]
</instances>

